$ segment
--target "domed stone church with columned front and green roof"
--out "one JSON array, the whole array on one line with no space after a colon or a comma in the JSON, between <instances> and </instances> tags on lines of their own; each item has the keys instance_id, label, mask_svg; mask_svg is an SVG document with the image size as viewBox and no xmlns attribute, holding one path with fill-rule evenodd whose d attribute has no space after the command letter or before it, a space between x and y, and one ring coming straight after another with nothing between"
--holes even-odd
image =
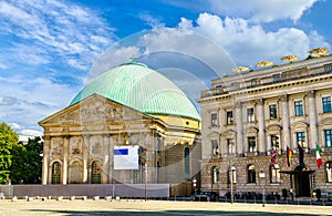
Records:
<instances>
[{"instance_id":1,"label":"domed stone church with columned front and green roof","mask_svg":"<svg viewBox=\"0 0 332 216\"><path fill-rule=\"evenodd\" d=\"M44 128L42 184L177 184L199 172L196 107L173 82L141 63L98 75L68 107L39 124ZM115 167L121 146L138 150L137 168Z\"/></svg>"}]
</instances>

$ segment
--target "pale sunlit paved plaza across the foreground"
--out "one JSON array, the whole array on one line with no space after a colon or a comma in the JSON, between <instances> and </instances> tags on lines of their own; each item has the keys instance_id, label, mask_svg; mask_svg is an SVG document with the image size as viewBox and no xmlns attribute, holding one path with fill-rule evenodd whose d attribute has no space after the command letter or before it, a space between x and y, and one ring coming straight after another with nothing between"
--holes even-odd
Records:
<instances>
[{"instance_id":1,"label":"pale sunlit paved plaza across the foreground","mask_svg":"<svg viewBox=\"0 0 332 216\"><path fill-rule=\"evenodd\" d=\"M173 200L0 200L4 215L332 215L331 206Z\"/></svg>"}]
</instances>

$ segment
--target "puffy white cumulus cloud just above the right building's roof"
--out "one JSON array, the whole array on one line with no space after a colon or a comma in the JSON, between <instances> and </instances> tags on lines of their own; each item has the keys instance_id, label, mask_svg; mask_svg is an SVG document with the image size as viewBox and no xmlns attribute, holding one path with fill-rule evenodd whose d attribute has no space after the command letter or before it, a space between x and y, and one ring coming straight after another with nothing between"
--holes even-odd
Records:
<instances>
[{"instance_id":1,"label":"puffy white cumulus cloud just above the right building's roof","mask_svg":"<svg viewBox=\"0 0 332 216\"><path fill-rule=\"evenodd\" d=\"M183 19L179 27L197 31L212 39L227 50L237 63L250 65L257 61L274 61L286 54L308 56L312 45L331 45L317 32L308 35L303 30L281 28L277 31L266 31L259 24L252 24L243 19L225 18L224 20L210 13L201 13L196 24ZM312 37L314 35L314 37Z\"/></svg>"}]
</instances>

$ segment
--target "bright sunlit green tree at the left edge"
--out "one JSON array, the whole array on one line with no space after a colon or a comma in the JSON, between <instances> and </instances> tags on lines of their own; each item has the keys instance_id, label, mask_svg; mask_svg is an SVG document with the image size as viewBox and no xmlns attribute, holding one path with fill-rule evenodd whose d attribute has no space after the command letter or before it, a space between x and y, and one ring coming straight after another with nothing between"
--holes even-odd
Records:
<instances>
[{"instance_id":1,"label":"bright sunlit green tree at the left edge","mask_svg":"<svg viewBox=\"0 0 332 216\"><path fill-rule=\"evenodd\" d=\"M4 122L0 123L0 184L8 184L11 166L11 150L19 142L19 135Z\"/></svg>"}]
</instances>

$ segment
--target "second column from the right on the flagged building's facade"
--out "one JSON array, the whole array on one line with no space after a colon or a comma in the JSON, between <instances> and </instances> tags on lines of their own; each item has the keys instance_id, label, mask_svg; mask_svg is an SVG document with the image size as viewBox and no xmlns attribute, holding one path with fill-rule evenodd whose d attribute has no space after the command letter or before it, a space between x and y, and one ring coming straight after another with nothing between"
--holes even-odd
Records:
<instances>
[{"instance_id":1,"label":"second column from the right on the flagged building's facade","mask_svg":"<svg viewBox=\"0 0 332 216\"><path fill-rule=\"evenodd\" d=\"M286 151L287 146L292 150L292 141L290 135L290 116L289 116L289 105L288 105L288 95L281 95L281 121L282 121L282 131L283 131L283 140L282 140L282 151Z\"/></svg>"}]
</instances>

